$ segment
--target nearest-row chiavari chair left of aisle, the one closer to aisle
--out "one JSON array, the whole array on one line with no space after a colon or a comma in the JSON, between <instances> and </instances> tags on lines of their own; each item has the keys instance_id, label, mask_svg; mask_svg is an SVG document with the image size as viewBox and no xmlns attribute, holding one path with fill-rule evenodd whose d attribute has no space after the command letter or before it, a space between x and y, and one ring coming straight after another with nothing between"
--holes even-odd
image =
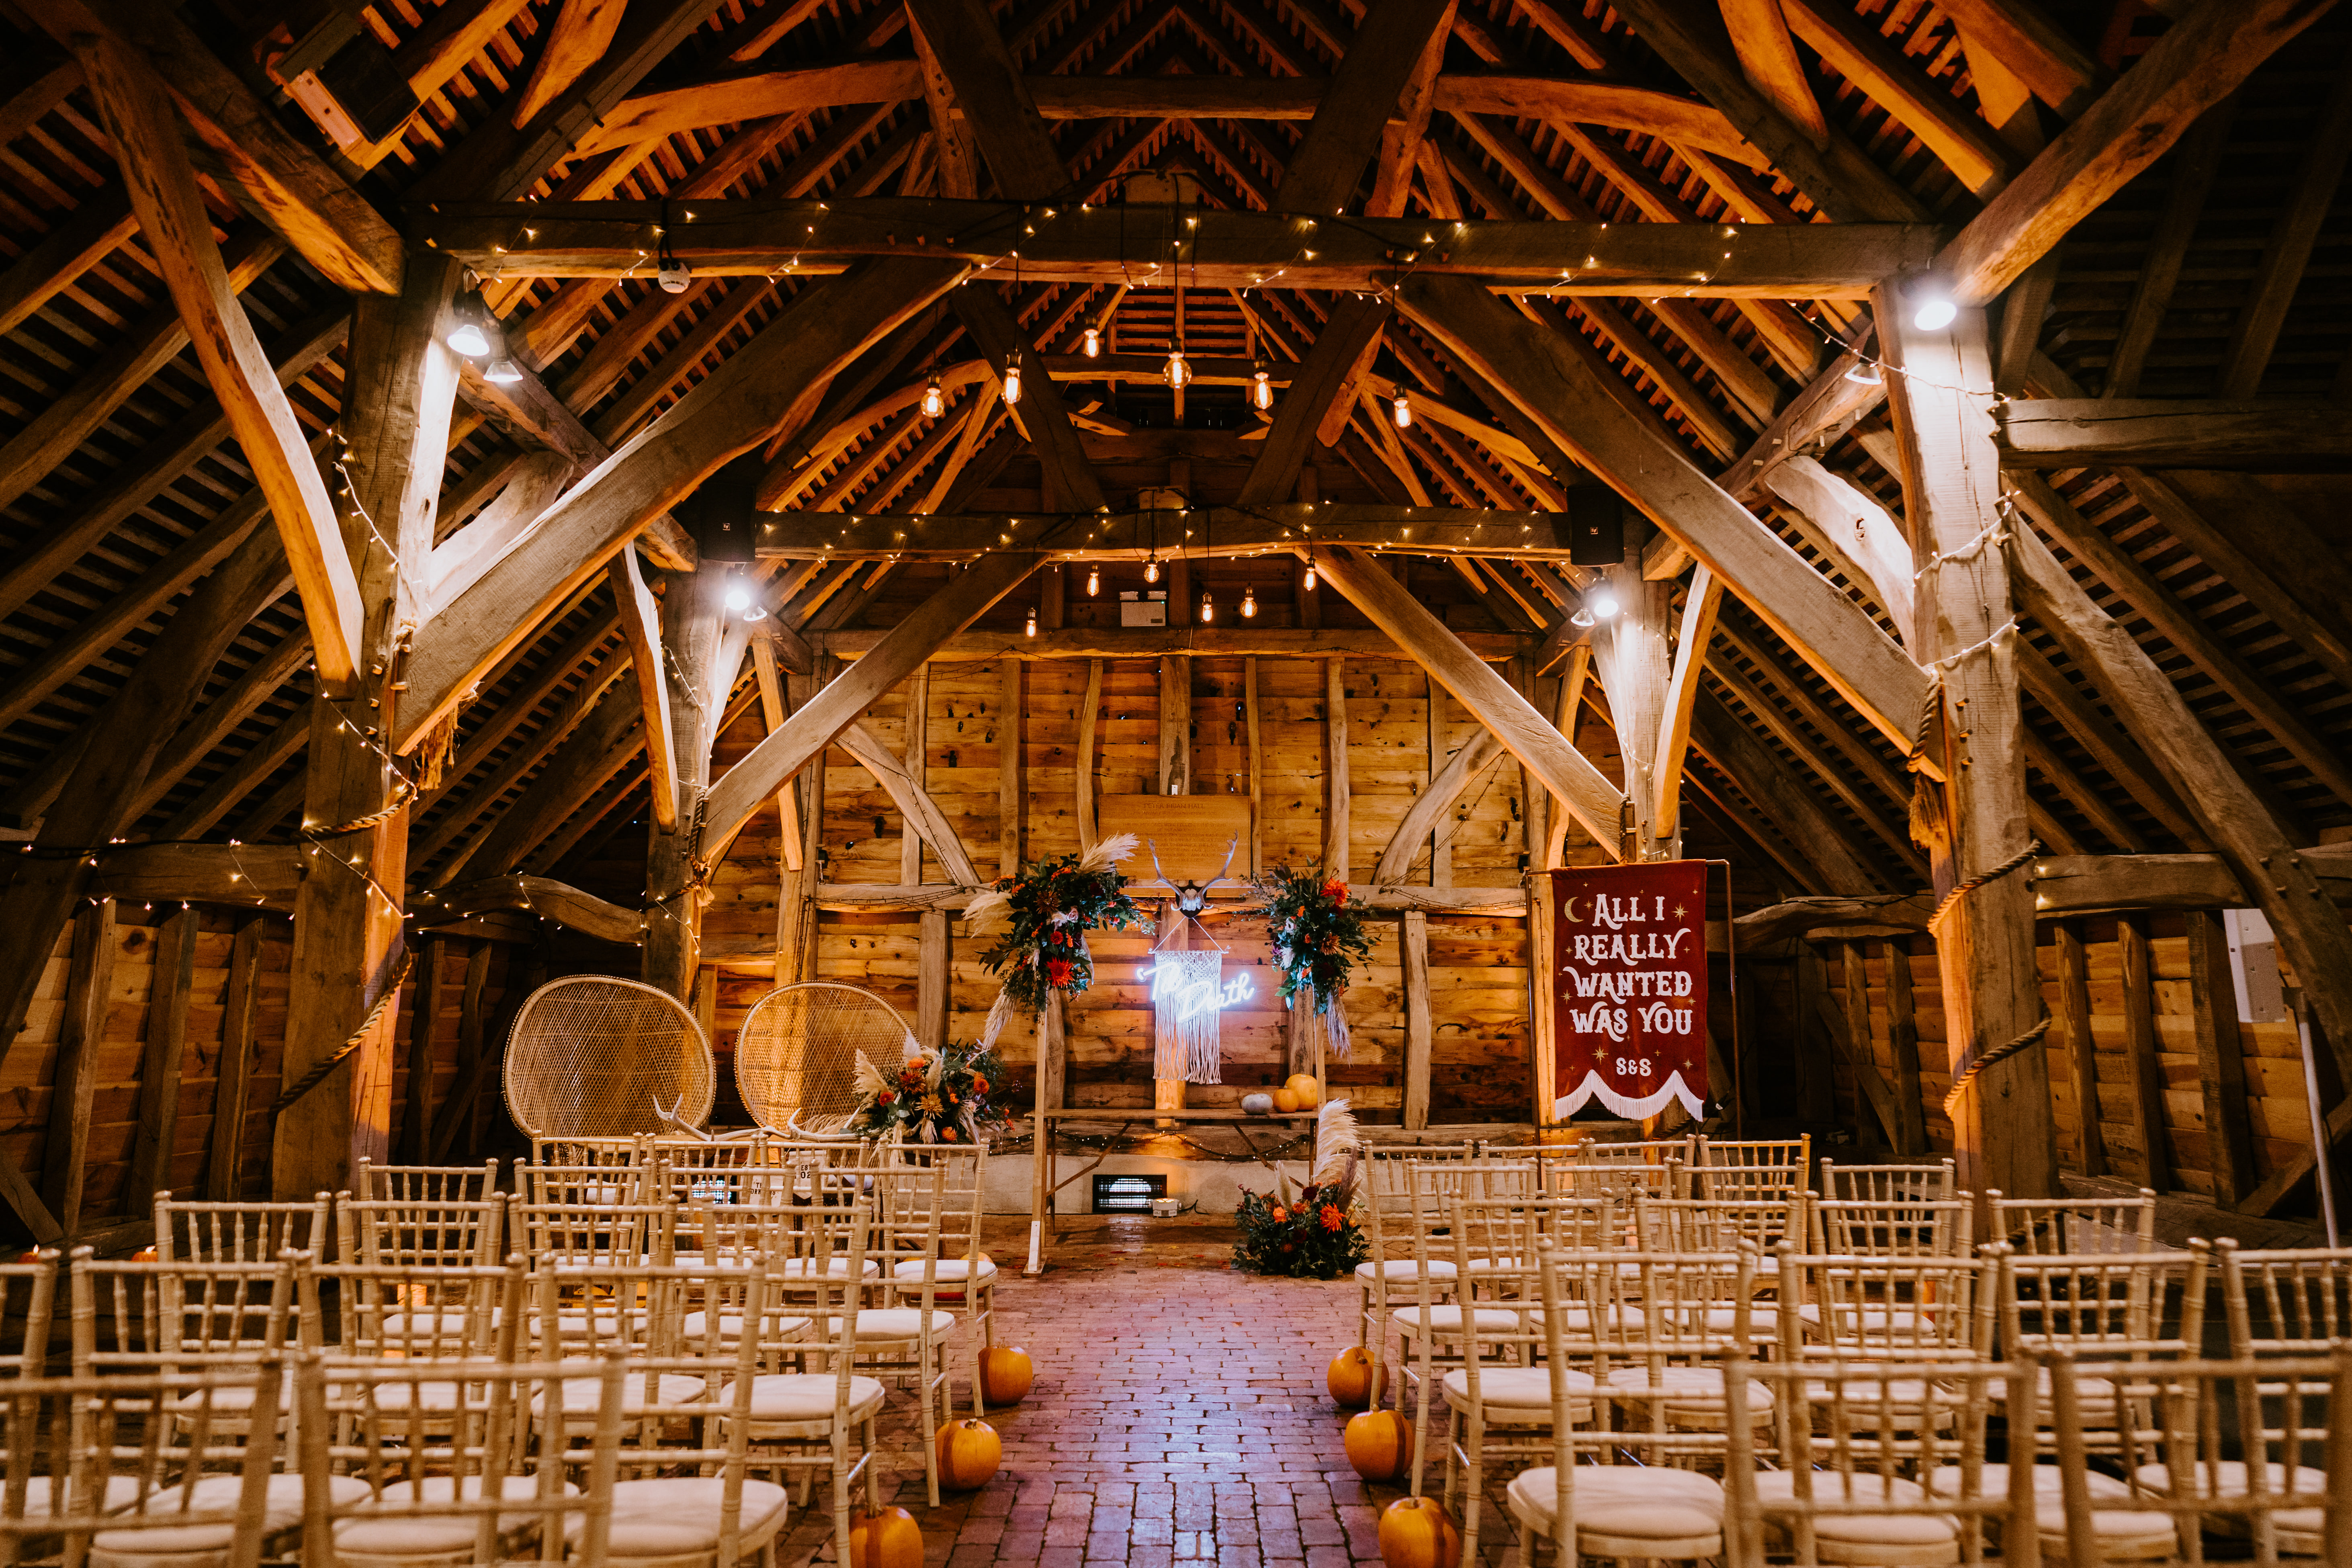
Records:
<instances>
[{"instance_id":1,"label":"nearest-row chiavari chair left of aisle, the one closer to aisle","mask_svg":"<svg viewBox=\"0 0 2352 1568\"><path fill-rule=\"evenodd\" d=\"M294 1368L303 1568L604 1563L626 1373L609 1354L386 1363L367 1382L343 1385L325 1356L303 1356ZM447 1441L428 1450L412 1427L437 1380L463 1401L449 1410ZM567 1396L572 1385L593 1385L590 1396ZM520 1441L532 1401L548 1410L536 1448ZM588 1439L586 1450L572 1446L576 1436ZM574 1486L569 1469L583 1469L586 1486Z\"/></svg>"}]
</instances>

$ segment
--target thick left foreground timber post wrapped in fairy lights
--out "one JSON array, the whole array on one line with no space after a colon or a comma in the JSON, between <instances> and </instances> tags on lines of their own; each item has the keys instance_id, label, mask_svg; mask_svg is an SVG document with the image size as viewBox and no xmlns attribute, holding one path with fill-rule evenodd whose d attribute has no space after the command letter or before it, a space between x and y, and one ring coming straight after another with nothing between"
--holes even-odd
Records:
<instances>
[{"instance_id":1,"label":"thick left foreground timber post wrapped in fairy lights","mask_svg":"<svg viewBox=\"0 0 2352 1568\"><path fill-rule=\"evenodd\" d=\"M390 731L402 701L402 628L416 618L430 583L433 512L459 378L456 355L440 339L454 287L454 263L419 261L397 296L362 296L350 324L341 430L353 512L339 543L360 581L360 656L353 691L310 705L303 776L310 842L294 896L285 1084L343 1048L376 999L397 985L405 961L409 809L397 792ZM341 1192L353 1161L388 1157L397 1011L397 1001L386 1006L358 1051L278 1117L273 1197Z\"/></svg>"}]
</instances>

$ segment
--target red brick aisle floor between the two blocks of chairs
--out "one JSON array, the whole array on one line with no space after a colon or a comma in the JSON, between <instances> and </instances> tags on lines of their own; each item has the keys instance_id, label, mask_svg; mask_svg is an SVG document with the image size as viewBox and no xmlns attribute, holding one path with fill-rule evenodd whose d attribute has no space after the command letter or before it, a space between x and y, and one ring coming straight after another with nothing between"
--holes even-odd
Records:
<instances>
[{"instance_id":1,"label":"red brick aisle floor between the two blocks of chairs","mask_svg":"<svg viewBox=\"0 0 2352 1568\"><path fill-rule=\"evenodd\" d=\"M1028 1222L993 1229L988 1251L1025 1258ZM1355 1342L1355 1284L1240 1274L1230 1251L1221 1225L1094 1220L1051 1248L1044 1276L997 1276L997 1342L1037 1363L1030 1396L988 1413L997 1476L924 1507L903 1394L882 1429L884 1497L922 1521L927 1563L1381 1561L1381 1509L1404 1493L1348 1467L1345 1413L1322 1382ZM960 1403L967 1368L960 1356ZM830 1528L823 1505L795 1516L779 1559L830 1563ZM1479 1533L1479 1556L1501 1563L1508 1516L1489 1509Z\"/></svg>"}]
</instances>

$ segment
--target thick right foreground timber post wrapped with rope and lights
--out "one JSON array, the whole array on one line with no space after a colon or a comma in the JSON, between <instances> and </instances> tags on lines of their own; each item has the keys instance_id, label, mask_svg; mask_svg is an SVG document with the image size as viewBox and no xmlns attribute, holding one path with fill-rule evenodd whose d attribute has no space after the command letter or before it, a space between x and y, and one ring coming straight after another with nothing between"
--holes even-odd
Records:
<instances>
[{"instance_id":1,"label":"thick right foreground timber post wrapped with rope and lights","mask_svg":"<svg viewBox=\"0 0 2352 1568\"><path fill-rule=\"evenodd\" d=\"M1945 661L1938 701L1943 827L1931 853L1936 893L1994 870L2027 846L2025 745L2018 715L2016 616L2009 557L1983 543L2002 524L1992 444L1992 357L1985 313L1962 310L1919 331L1891 287L1877 299L1879 341L1900 371L1889 407L1903 454L1903 505L1919 576L1922 661ZM1971 390L1959 390L1971 388ZM1955 1077L2042 1020L2034 978L2034 893L2023 870L1952 903L1936 931ZM1952 1112L1959 1185L2046 1197L2058 1185L2049 1065L2042 1048L2009 1056Z\"/></svg>"}]
</instances>

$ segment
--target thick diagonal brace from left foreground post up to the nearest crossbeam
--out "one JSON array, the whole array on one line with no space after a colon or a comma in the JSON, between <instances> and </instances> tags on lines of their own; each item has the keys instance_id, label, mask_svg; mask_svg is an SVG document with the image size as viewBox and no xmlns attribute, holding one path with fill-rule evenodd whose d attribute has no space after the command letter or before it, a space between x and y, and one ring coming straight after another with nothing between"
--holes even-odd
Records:
<instances>
[{"instance_id":1,"label":"thick diagonal brace from left foreground post up to the nearest crossbeam","mask_svg":"<svg viewBox=\"0 0 2352 1568\"><path fill-rule=\"evenodd\" d=\"M790 423L844 364L960 275L953 263L877 261L802 289L760 336L600 463L515 550L423 625L395 745L414 748L489 665L649 520L727 458Z\"/></svg>"}]
</instances>

